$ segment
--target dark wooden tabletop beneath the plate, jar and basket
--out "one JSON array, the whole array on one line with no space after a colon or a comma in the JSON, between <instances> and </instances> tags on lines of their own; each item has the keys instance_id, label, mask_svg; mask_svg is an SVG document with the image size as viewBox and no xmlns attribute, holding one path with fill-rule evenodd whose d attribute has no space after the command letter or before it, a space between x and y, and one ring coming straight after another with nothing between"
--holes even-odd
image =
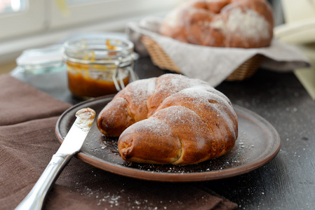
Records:
<instances>
[{"instance_id":1,"label":"dark wooden tabletop beneath the plate, jar and basket","mask_svg":"<svg viewBox=\"0 0 315 210\"><path fill-rule=\"evenodd\" d=\"M149 58L140 58L135 71L140 78L168 72ZM15 77L62 101L80 102L67 89L65 73ZM315 102L294 73L259 69L248 80L224 81L216 88L233 104L269 121L279 132L281 150L253 172L198 184L236 202L239 209L315 209Z\"/></svg>"}]
</instances>

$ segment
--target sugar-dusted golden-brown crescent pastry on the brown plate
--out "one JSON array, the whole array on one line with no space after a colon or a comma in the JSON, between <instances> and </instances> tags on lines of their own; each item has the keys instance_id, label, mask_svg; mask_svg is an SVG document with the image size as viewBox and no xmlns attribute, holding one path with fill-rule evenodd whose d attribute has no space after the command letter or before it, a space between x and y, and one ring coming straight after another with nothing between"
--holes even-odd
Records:
<instances>
[{"instance_id":1,"label":"sugar-dusted golden-brown crescent pastry on the brown plate","mask_svg":"<svg viewBox=\"0 0 315 210\"><path fill-rule=\"evenodd\" d=\"M98 129L119 137L129 162L191 165L231 151L238 120L229 99L179 74L136 80L99 113Z\"/></svg>"}]
</instances>

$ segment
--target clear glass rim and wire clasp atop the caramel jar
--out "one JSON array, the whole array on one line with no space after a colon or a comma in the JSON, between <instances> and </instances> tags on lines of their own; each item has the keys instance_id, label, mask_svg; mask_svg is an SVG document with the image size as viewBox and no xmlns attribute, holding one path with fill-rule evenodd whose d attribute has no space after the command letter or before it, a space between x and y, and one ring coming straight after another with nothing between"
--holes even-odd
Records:
<instances>
[{"instance_id":1,"label":"clear glass rim and wire clasp atop the caramel jar","mask_svg":"<svg viewBox=\"0 0 315 210\"><path fill-rule=\"evenodd\" d=\"M82 64L127 65L134 62L138 55L133 52L133 43L121 38L88 36L66 41L62 57L70 62Z\"/></svg>"}]
</instances>

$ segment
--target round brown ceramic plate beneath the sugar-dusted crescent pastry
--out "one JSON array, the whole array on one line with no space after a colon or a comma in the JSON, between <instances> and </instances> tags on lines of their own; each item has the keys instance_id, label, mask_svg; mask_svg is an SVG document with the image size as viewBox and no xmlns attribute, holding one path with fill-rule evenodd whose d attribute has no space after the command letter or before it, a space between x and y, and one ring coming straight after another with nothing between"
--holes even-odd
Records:
<instances>
[{"instance_id":1,"label":"round brown ceramic plate beneath the sugar-dusted crescent pastry","mask_svg":"<svg viewBox=\"0 0 315 210\"><path fill-rule=\"evenodd\" d=\"M74 123L76 111L90 107L98 114L111 100L112 97L100 97L65 111L55 127L58 141L62 143ZM77 157L107 172L150 181L208 181L245 174L276 156L280 138L264 118L240 106L234 105L234 109L239 118L239 138L232 151L214 160L186 166L130 164L121 159L117 139L104 137L95 124L96 120Z\"/></svg>"}]
</instances>

